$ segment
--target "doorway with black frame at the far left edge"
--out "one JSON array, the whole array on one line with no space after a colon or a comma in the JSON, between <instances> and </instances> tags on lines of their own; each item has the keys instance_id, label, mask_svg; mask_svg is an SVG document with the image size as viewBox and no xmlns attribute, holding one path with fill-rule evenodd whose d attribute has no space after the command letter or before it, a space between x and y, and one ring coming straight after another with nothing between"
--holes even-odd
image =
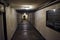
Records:
<instances>
[{"instance_id":1,"label":"doorway with black frame at the far left edge","mask_svg":"<svg viewBox=\"0 0 60 40\"><path fill-rule=\"evenodd\" d=\"M6 13L4 4L0 3L0 40L7 40Z\"/></svg>"}]
</instances>

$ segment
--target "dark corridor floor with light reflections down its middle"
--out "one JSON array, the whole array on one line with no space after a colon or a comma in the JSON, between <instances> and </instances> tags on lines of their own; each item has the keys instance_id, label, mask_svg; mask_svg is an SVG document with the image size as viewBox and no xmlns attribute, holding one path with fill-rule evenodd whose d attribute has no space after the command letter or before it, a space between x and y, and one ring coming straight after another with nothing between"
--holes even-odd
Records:
<instances>
[{"instance_id":1,"label":"dark corridor floor with light reflections down its middle","mask_svg":"<svg viewBox=\"0 0 60 40\"><path fill-rule=\"evenodd\" d=\"M27 21L18 27L12 40L45 40L43 36Z\"/></svg>"}]
</instances>

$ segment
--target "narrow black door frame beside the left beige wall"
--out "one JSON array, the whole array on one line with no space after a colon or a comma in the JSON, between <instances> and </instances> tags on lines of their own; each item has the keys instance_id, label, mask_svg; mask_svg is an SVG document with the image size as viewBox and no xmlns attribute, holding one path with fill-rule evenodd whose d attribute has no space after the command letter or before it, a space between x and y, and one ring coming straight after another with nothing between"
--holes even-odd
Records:
<instances>
[{"instance_id":1,"label":"narrow black door frame beside the left beige wall","mask_svg":"<svg viewBox=\"0 0 60 40\"><path fill-rule=\"evenodd\" d=\"M3 14L3 29L4 29L4 38L5 38L5 40L7 40L7 26L6 26L6 6L3 4L3 3L1 3L0 2L0 4L1 5L3 5L3 7L4 7L4 12L2 12L2 14Z\"/></svg>"}]
</instances>

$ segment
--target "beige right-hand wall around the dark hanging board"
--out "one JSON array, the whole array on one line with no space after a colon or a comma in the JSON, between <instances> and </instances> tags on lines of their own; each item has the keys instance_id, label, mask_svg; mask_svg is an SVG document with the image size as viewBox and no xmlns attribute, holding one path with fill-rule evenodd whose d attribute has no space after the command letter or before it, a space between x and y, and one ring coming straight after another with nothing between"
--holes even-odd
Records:
<instances>
[{"instance_id":1,"label":"beige right-hand wall around the dark hanging board","mask_svg":"<svg viewBox=\"0 0 60 40\"><path fill-rule=\"evenodd\" d=\"M46 40L60 40L60 33L46 27L46 11L60 8L60 3L35 12L35 27Z\"/></svg>"}]
</instances>

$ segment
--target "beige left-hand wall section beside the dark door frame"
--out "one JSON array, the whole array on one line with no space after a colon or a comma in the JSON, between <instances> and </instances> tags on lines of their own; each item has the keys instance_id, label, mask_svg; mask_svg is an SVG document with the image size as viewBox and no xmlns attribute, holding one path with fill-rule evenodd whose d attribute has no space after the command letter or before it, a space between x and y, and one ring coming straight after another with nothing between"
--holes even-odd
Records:
<instances>
[{"instance_id":1,"label":"beige left-hand wall section beside the dark door frame","mask_svg":"<svg viewBox=\"0 0 60 40\"><path fill-rule=\"evenodd\" d=\"M16 12L11 7L6 7L6 22L8 40L11 40L17 27Z\"/></svg>"}]
</instances>

